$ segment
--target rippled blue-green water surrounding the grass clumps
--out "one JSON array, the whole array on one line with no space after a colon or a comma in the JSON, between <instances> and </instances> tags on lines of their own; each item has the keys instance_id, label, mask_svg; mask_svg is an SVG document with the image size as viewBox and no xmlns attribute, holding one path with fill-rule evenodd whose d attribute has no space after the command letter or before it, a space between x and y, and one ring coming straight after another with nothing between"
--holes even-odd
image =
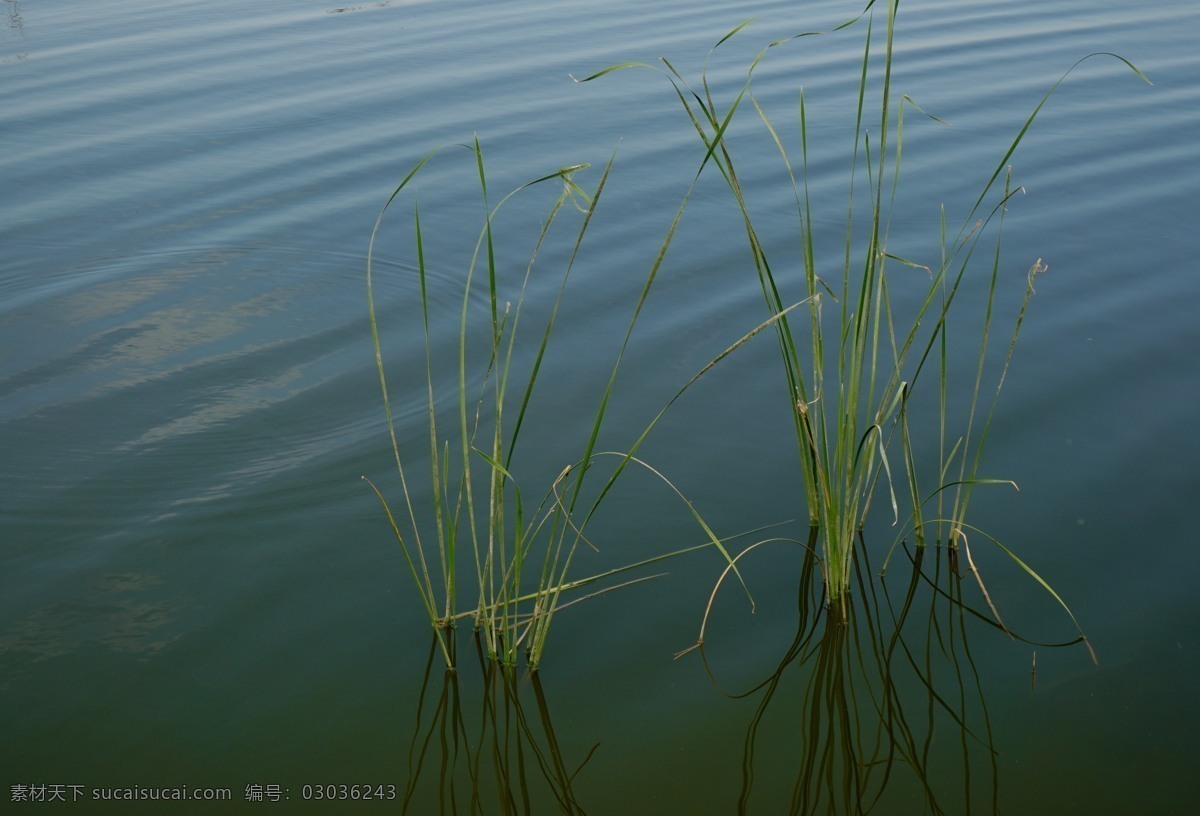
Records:
<instances>
[{"instance_id":1,"label":"rippled blue-green water surrounding the grass clumps","mask_svg":"<svg viewBox=\"0 0 1200 816\"><path fill-rule=\"evenodd\" d=\"M415 778L410 812L502 812L499 756L518 812L521 768L533 812L559 806L556 762L566 775L583 766L571 790L590 814L736 812L746 764L750 811L786 812L805 727L803 670L784 678L744 762L761 694L730 700L695 655L672 659L695 640L721 568L714 553L565 612L541 688L522 676L511 696L503 684L485 694L467 638L457 679L434 671L425 685L427 624L360 480L398 497L364 269L379 208L434 146L478 133L500 193L578 162L593 163L581 176L593 186L618 149L530 420L523 466L532 482L553 475L582 448L634 298L700 156L664 78L630 71L581 85L569 74L666 55L695 77L713 42L761 16L714 58L713 90L728 98L758 48L829 29L858 5L5 0L6 809L14 786L82 786L90 799L92 788L186 785L227 787L233 800L170 812L301 810L304 785L403 793ZM901 253L931 257L937 206L961 218L1075 59L1117 52L1154 82L1114 60L1085 64L1013 158L1027 194L1006 224L1006 269L1019 281L1040 257L1050 271L986 458L989 474L1021 491L976 499L976 521L1070 604L1099 665L1079 647L1038 649L1031 690L1032 647L983 626L970 644L1004 812L1192 812L1200 8L1183 0L904 6L895 86L949 125L906 118L906 198L893 222ZM792 145L796 92L805 89L811 182L835 202L817 230L834 241L860 31L774 49L756 72L756 92ZM760 228L786 254L791 191L750 116L745 125L742 169L760 191ZM436 341L443 349L452 347L478 226L468 158L446 152L419 190L436 236L431 292L437 325L449 326ZM728 193L715 175L708 182L622 370L612 446L628 445L674 389L763 317ZM504 263L528 258L547 204L529 200L512 210L508 234L518 238L500 247ZM378 250L382 310L394 318L384 342L397 370L421 360L408 208L392 214ZM560 260L563 247L547 252ZM554 286L535 282L533 302L545 304ZM772 342L748 346L703 380L644 450L722 535L803 514L794 451L779 444L791 432ZM970 366L972 353L961 349L956 365ZM421 395L396 390L401 436L419 449ZM876 566L893 535L886 521L868 532ZM698 541L649 480L629 482L594 532L604 550L588 571ZM976 554L1012 626L1040 641L1073 637L1009 562L983 545ZM709 638L732 689L767 677L791 642L798 572L787 552L750 564L752 617L722 595ZM977 589L966 592L982 606ZM461 707L457 720L438 719L443 694ZM924 704L910 718L923 720ZM497 733L524 751L481 751ZM953 756L960 737L938 732L934 756L946 745ZM476 754L484 781L473 803ZM454 772L439 778L448 756ZM943 806L958 812L961 769L934 767L930 785L949 786ZM973 784L988 776L986 758L972 773ZM248 803L251 785L286 787L290 800ZM922 811L911 780L888 797L875 812ZM354 806L397 809L377 805ZM990 812L988 794L977 808ZM109 810L128 812L83 799L53 811Z\"/></svg>"}]
</instances>

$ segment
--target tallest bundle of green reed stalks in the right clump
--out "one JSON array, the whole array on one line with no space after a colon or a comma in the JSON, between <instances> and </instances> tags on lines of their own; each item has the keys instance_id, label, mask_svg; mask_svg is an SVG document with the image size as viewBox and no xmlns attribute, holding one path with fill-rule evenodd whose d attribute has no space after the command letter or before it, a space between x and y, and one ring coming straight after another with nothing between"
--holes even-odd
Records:
<instances>
[{"instance_id":1,"label":"tallest bundle of green reed stalks in the right clump","mask_svg":"<svg viewBox=\"0 0 1200 816\"><path fill-rule=\"evenodd\" d=\"M763 122L780 149L788 178L796 192L796 203L800 218L802 246L804 248L804 278L806 287L804 301L809 304L811 356L804 354L796 341L796 334L786 314L790 308L785 306L785 301L780 294L780 283L772 269L767 250L754 226L746 202L746 193L737 174L731 148L726 143L726 132L738 107L745 98L754 98L750 90L750 77L754 68L769 48L787 41L772 43L755 58L748 71L745 83L725 112L718 109L708 86L707 66L702 74L701 91L697 92L688 85L686 80L667 60L662 60L662 64L666 66L665 73L671 80L677 97L704 143L707 149L704 163L712 162L733 193L742 216L751 259L763 298L770 313L778 316L774 325L780 344L784 374L788 386L788 398L794 406L797 449L803 470L808 476L805 479L805 491L809 518L814 527L822 530L823 562L832 602L839 602L842 592L848 589L848 568L853 550L853 539L862 527L862 518L875 484L876 469L880 463L887 468L887 456L883 446L883 422L895 412L899 404L895 388L881 391L876 384L881 340L883 337L881 335L882 322L880 314L887 308L883 269L886 258L883 240L883 179L886 178L884 167L888 161L887 132L890 124L889 88L892 35L894 30L893 11L894 6L889 6L887 25L888 66L882 91L881 113L881 133L883 136L875 157L870 154L869 142L866 143L866 161L872 188L872 194L869 199L872 206L871 228L866 240L866 251L860 262L862 269L859 270L858 262L852 259L854 210L853 198L851 198L850 206L847 208L845 259L842 263L842 296L840 299L834 298L841 305L841 330L838 332L833 347L835 372L830 377L832 382L829 383L828 391L826 383L827 355L826 328L822 319L822 298L823 293L832 295L832 290L816 272L817 262L812 251L814 238L811 218L809 216L809 191L806 184L808 133L803 97L800 103L802 150L805 156L803 193L800 187L797 186L792 164L774 127L772 127L769 119L762 114L762 108L757 101L754 101L754 106L762 114ZM749 22L733 29L714 46L714 49L727 42L748 24ZM839 28L845 28L845 25ZM869 25L866 47L863 55L862 80L859 84L852 173L858 164L859 142L864 140L860 139L860 136L863 134L864 101L868 95L871 32L872 29ZM797 35L797 37L808 36L808 34ZM790 40L797 37L791 37ZM614 66L613 68L593 74L588 79L604 76L619 67L631 67L631 65ZM870 167L872 161L877 161L877 167ZM853 187L851 196L853 196ZM852 300L852 296L854 300ZM805 372L805 364L803 362L805 359L812 360L811 374ZM892 379L895 379L895 374L893 374ZM827 418L828 413L833 414L832 419ZM859 424L864 421L866 422L866 427L864 431L859 431Z\"/></svg>"}]
</instances>

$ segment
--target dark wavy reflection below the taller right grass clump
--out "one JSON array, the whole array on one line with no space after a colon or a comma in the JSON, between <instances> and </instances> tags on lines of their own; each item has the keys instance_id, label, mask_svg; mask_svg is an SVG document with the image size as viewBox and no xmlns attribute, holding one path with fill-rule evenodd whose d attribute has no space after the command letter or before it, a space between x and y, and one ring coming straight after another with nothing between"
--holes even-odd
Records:
<instances>
[{"instance_id":1,"label":"dark wavy reflection below the taller right grass clump","mask_svg":"<svg viewBox=\"0 0 1200 816\"><path fill-rule=\"evenodd\" d=\"M857 547L845 619L828 613L814 536L806 552L794 640L764 680L724 691L757 698L737 812L998 812L997 751L968 635L980 634L974 620L1001 626L964 600L971 578L955 551L906 551L912 571L893 595Z\"/></svg>"}]
</instances>

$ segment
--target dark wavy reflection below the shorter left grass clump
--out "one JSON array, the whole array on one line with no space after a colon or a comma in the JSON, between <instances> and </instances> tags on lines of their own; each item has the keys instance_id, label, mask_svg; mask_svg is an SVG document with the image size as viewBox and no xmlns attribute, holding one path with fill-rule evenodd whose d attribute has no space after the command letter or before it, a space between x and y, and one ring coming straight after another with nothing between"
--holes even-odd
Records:
<instances>
[{"instance_id":1,"label":"dark wavy reflection below the shorter left grass clump","mask_svg":"<svg viewBox=\"0 0 1200 816\"><path fill-rule=\"evenodd\" d=\"M478 638L473 642L482 682L478 707L470 694L476 689L464 695L461 672L439 668L437 643L430 649L403 812L582 815L574 781L595 746L569 767L538 673L522 676L487 660Z\"/></svg>"}]
</instances>

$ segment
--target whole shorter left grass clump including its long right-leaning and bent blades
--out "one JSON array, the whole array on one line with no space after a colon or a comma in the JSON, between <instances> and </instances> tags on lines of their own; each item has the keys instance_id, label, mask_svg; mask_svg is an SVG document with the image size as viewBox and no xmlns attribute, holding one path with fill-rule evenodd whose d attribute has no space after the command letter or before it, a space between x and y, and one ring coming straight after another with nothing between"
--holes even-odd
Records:
<instances>
[{"instance_id":1,"label":"whole shorter left grass clump including its long right-leaning and bent blades","mask_svg":"<svg viewBox=\"0 0 1200 816\"><path fill-rule=\"evenodd\" d=\"M376 239L384 215L439 150L431 151L421 158L392 191L376 221L367 253L367 302L371 335L392 457L400 476L407 532L401 529L402 524L397 521L383 491L370 479L367 481L379 498L391 532L400 544L421 605L437 632L437 642L446 665L455 665L452 640L446 636L446 630L461 620L470 619L476 631L480 632L490 658L515 664L518 654L523 652L528 665L536 668L545 652L551 624L559 610L598 594L655 577L642 576L613 583L623 574L707 547L715 548L727 560L730 559L728 551L725 548L725 542L730 538L719 538L667 475L636 456L641 439L628 451L598 450L598 442L622 360L629 348L630 338L646 306L658 271L671 246L674 228L678 226L684 208L680 206L654 262L650 264L608 380L593 414L582 455L562 469L542 492L536 505L533 505L527 500L521 482L512 472L514 455L524 428L527 412L534 397L535 384L551 342L568 280L608 179L616 154L608 160L600 181L590 193L574 181L575 174L587 167L577 164L521 185L499 203L491 205L488 204L487 173L478 139L474 144L461 146L467 148L472 154L484 214L482 227L475 239L474 252L463 278L462 306L457 323L457 355L454 368L456 388L450 397L440 394L434 384L434 370L440 365L432 354L434 336L439 332L444 334L446 326L433 325L431 318L425 233L421 226L420 206L418 204L413 206L410 240L416 260L419 306L425 346L421 389L425 394L428 446L428 478L420 490L410 485L410 474L406 467L406 457L401 454L396 422L391 413L388 373L383 361L374 304L376 283L372 262ZM508 281L504 264L498 260L496 248L497 215L518 193L551 182L560 182L560 192L542 221L522 277L516 282ZM568 204L575 206L568 208ZM544 324L540 331L534 335L535 352L530 360L523 362L522 356L515 349L524 313L526 293L534 274L539 252L547 242L557 220L570 209L577 210L582 217L569 245L568 259L552 302L546 310ZM474 344L472 342L480 328L475 325L474 322L478 322L478 318L472 316L469 308L478 278L486 280L487 293L487 316L484 326L486 340L482 348L478 348L478 341ZM478 286L482 287L484 284ZM502 290L510 288L515 290L515 296L511 300L504 300L504 305L500 306ZM710 366L770 324L772 320L768 320L751 331L718 360L714 360ZM468 385L475 380L480 382L478 395L472 392ZM683 390L686 390L686 386ZM439 424L439 416L445 412L446 403L454 406L457 420L451 431L451 434L455 436L454 444L451 444L450 438L444 437L444 428ZM514 414L515 419L510 424L510 418ZM642 436L643 439L644 436ZM614 464L612 473L598 492L589 493L584 486L586 475L594 472L601 462L610 461ZM596 550L584 530L600 509L605 497L629 466L650 474L659 484L665 485L670 493L691 512L703 529L707 536L706 541L642 558L587 577L575 577L572 566L580 545ZM427 497L427 505L421 504L420 497ZM430 527L432 527L432 542L427 542L431 535ZM436 565L431 568L431 562L434 560ZM475 602L466 607L458 600L461 562L469 564L466 569L474 575L476 595ZM583 598L564 599L564 594L577 593L586 587L602 582L608 582L608 586L594 589Z\"/></svg>"}]
</instances>

